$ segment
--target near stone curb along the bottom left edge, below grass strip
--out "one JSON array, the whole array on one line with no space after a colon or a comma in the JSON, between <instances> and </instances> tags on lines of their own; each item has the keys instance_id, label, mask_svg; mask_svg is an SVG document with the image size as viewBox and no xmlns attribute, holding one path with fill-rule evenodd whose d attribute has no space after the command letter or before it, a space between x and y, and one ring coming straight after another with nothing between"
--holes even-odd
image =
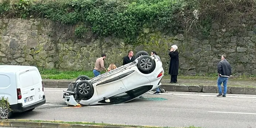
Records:
<instances>
[{"instance_id":1,"label":"near stone curb along the bottom left edge, below grass strip","mask_svg":"<svg viewBox=\"0 0 256 128\"><path fill-rule=\"evenodd\" d=\"M111 125L92 125L92 124L66 124L51 122L32 122L19 120L0 120L1 127L20 127L20 128L135 128L126 126Z\"/></svg>"}]
</instances>

